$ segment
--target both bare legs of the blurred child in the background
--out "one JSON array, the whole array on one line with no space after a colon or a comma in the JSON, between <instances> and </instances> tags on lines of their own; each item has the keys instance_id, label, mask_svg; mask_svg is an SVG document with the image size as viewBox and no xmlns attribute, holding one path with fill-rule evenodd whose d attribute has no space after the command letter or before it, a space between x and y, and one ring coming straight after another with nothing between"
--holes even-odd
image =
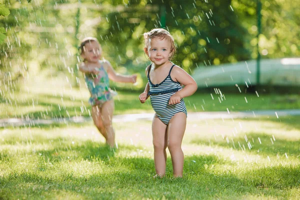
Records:
<instances>
[{"instance_id":1,"label":"both bare legs of the blurred child in the background","mask_svg":"<svg viewBox=\"0 0 300 200\"><path fill-rule=\"evenodd\" d=\"M99 106L92 106L91 117L99 132L106 139L106 143L114 146L114 131L111 126L112 114L114 109L113 100L106 101Z\"/></svg>"}]
</instances>

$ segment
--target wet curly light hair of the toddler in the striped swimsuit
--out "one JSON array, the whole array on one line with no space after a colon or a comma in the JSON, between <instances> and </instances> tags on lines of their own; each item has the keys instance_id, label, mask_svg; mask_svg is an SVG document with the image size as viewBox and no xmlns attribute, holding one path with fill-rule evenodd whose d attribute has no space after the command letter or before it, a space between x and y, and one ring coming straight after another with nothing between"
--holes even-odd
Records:
<instances>
[{"instance_id":1,"label":"wet curly light hair of the toddler in the striped swimsuit","mask_svg":"<svg viewBox=\"0 0 300 200\"><path fill-rule=\"evenodd\" d=\"M174 38L173 36L163 28L153 28L149 32L143 33L143 38L144 38L144 43L145 43L145 48L147 48L150 45L150 42L152 39L159 38L159 39L164 39L166 38L171 42L171 54L169 56L169 60L171 60L176 52L176 46L174 43Z\"/></svg>"}]
</instances>

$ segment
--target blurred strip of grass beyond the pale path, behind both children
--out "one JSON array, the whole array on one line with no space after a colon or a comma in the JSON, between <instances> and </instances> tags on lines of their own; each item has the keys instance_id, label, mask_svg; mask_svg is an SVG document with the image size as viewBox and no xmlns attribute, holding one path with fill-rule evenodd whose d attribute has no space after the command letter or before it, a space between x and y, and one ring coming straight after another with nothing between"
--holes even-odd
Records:
<instances>
[{"instance_id":1,"label":"blurred strip of grass beyond the pale path, behind both children","mask_svg":"<svg viewBox=\"0 0 300 200\"><path fill-rule=\"evenodd\" d=\"M37 84L42 82L43 84ZM89 93L84 83L72 88L64 79L27 82L20 88L1 87L0 118L51 118L89 116ZM133 86L134 87L134 86ZM149 99L141 104L136 90L120 91L115 99L115 114L152 112ZM241 111L257 109L297 109L297 94L201 93L185 98L188 111Z\"/></svg>"}]
</instances>

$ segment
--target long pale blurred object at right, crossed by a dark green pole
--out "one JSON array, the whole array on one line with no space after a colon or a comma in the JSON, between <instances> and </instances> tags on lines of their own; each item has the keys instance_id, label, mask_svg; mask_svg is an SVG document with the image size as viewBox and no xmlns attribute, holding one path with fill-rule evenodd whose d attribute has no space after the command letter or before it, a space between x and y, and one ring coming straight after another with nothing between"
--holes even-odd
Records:
<instances>
[{"instance_id":1,"label":"long pale blurred object at right, crossed by a dark green pole","mask_svg":"<svg viewBox=\"0 0 300 200\"><path fill-rule=\"evenodd\" d=\"M256 84L256 60L201 66L192 77L198 87ZM260 84L300 86L300 58L261 59Z\"/></svg>"}]
</instances>

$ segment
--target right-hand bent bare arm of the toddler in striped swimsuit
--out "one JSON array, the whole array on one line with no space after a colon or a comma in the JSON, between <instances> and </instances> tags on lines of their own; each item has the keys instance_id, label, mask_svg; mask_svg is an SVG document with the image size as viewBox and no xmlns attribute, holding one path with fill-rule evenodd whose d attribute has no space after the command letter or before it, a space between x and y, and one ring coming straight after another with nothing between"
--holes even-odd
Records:
<instances>
[{"instance_id":1,"label":"right-hand bent bare arm of the toddler in striped swimsuit","mask_svg":"<svg viewBox=\"0 0 300 200\"><path fill-rule=\"evenodd\" d=\"M182 68L180 68L178 66L174 66L173 70L171 71L171 77L175 81L180 82L181 84L184 85L183 89L177 91L174 94L175 95L174 97L177 96L177 97L180 97L180 99L181 99L186 96L192 95L197 90L198 86L197 86L196 81ZM172 102L171 100L175 100L175 101ZM176 98L175 99L170 98L169 104L173 104L173 103L178 103Z\"/></svg>"}]
</instances>

